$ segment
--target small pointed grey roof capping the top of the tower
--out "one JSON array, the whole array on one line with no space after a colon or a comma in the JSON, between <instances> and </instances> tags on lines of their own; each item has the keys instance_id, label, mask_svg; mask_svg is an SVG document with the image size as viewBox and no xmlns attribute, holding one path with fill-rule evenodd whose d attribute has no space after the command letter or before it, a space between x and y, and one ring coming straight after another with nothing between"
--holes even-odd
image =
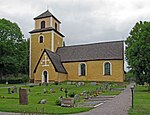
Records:
<instances>
[{"instance_id":1,"label":"small pointed grey roof capping the top of the tower","mask_svg":"<svg viewBox=\"0 0 150 115\"><path fill-rule=\"evenodd\" d=\"M39 16L35 17L34 20L41 19L41 18L47 18L47 17L53 17L55 20L57 20L59 23L61 23L52 13L49 12L49 10L47 10L44 13L40 14Z\"/></svg>"}]
</instances>

